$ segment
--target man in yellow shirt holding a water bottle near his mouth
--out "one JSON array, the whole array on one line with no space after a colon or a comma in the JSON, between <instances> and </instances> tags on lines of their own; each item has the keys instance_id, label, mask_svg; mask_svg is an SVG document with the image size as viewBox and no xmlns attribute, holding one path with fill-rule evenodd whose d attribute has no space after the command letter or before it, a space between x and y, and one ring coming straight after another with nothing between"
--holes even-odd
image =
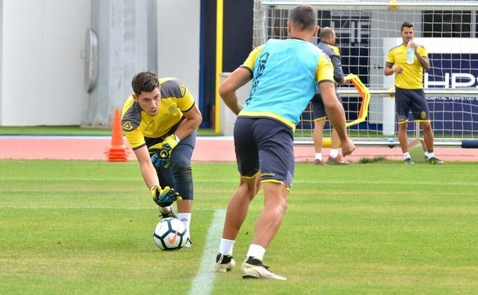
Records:
<instances>
[{"instance_id":1,"label":"man in yellow shirt holding a water bottle near his mouth","mask_svg":"<svg viewBox=\"0 0 478 295\"><path fill-rule=\"evenodd\" d=\"M430 164L444 164L434 155L433 131L430 124L430 111L423 92L423 70L430 70L428 51L413 41L413 24L401 25L402 44L388 51L383 74L395 74L395 111L399 122L399 142L405 164L414 164L408 153L408 113L410 109L414 120L420 122L423 129L423 141L426 144L425 157Z\"/></svg>"}]
</instances>

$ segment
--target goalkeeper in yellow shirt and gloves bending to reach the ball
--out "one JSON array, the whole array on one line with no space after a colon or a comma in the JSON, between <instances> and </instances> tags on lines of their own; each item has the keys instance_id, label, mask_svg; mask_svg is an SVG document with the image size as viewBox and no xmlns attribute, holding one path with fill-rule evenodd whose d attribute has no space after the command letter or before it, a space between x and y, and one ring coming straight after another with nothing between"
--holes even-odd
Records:
<instances>
[{"instance_id":1,"label":"goalkeeper in yellow shirt and gloves bending to reach the ball","mask_svg":"<svg viewBox=\"0 0 478 295\"><path fill-rule=\"evenodd\" d=\"M193 208L191 155L202 116L184 84L153 72L133 76L122 129L162 218L180 219L189 231ZM174 188L174 189L173 189ZM178 214L171 204L178 200ZM188 240L186 247L191 247Z\"/></svg>"}]
</instances>

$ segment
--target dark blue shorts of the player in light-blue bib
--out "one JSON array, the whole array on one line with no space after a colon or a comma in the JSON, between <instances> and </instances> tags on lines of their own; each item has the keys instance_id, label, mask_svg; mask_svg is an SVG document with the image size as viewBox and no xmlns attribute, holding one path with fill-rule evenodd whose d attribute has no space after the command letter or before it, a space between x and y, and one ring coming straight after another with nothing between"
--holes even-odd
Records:
<instances>
[{"instance_id":1,"label":"dark blue shorts of the player in light-blue bib","mask_svg":"<svg viewBox=\"0 0 478 295\"><path fill-rule=\"evenodd\" d=\"M238 117L234 125L238 171L262 182L280 182L288 189L294 178L294 135L289 126L264 117Z\"/></svg>"}]
</instances>

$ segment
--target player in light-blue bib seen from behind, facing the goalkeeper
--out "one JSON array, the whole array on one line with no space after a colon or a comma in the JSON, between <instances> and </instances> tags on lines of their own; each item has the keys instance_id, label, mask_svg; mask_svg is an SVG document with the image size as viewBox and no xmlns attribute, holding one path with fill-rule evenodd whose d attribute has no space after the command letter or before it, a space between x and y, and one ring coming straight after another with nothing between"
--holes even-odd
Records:
<instances>
[{"instance_id":1,"label":"player in light-blue bib seen from behind, facing the goalkeeper","mask_svg":"<svg viewBox=\"0 0 478 295\"><path fill-rule=\"evenodd\" d=\"M241 266L242 278L287 280L271 272L262 259L283 220L294 179L293 131L316 92L317 83L341 138L343 154L355 149L345 131L343 106L335 95L334 67L322 50L310 43L318 31L317 14L312 6L302 4L291 10L287 30L289 39L271 39L254 49L219 87L224 103L238 115L234 147L240 182L227 206L214 266L216 272L227 272L236 265L233 245L249 203L262 187L264 209ZM236 90L251 79L251 91L242 105Z\"/></svg>"}]
</instances>

